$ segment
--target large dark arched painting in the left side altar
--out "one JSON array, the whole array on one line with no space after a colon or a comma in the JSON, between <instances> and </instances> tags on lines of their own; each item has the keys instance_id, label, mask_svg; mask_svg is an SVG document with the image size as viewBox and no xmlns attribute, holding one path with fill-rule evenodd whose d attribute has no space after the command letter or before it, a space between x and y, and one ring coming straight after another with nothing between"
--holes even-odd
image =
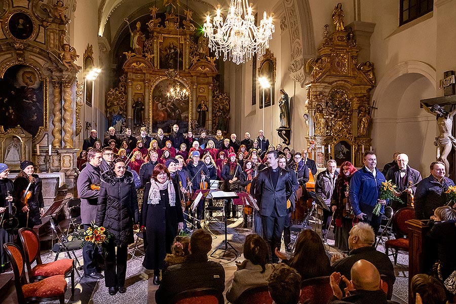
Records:
<instances>
[{"instance_id":1,"label":"large dark arched painting in the left side altar","mask_svg":"<svg viewBox=\"0 0 456 304\"><path fill-rule=\"evenodd\" d=\"M35 137L47 130L47 90L47 81L31 66L8 68L0 79L0 131L19 125Z\"/></svg>"}]
</instances>

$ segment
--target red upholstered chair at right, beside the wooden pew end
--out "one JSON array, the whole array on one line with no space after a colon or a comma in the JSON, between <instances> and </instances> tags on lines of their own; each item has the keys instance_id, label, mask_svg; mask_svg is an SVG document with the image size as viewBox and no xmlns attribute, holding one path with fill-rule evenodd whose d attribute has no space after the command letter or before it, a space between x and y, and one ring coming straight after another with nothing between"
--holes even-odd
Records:
<instances>
[{"instance_id":1,"label":"red upholstered chair at right, beside the wooden pew end","mask_svg":"<svg viewBox=\"0 0 456 304\"><path fill-rule=\"evenodd\" d=\"M415 210L411 207L401 208L393 216L393 230L396 235L407 236L407 225L405 222L407 220L415 218ZM391 254L389 254L389 249L391 248ZM397 253L399 250L408 252L408 238L397 238L393 240L388 240L385 242L385 253L388 255L394 256L394 264L397 263Z\"/></svg>"}]
</instances>

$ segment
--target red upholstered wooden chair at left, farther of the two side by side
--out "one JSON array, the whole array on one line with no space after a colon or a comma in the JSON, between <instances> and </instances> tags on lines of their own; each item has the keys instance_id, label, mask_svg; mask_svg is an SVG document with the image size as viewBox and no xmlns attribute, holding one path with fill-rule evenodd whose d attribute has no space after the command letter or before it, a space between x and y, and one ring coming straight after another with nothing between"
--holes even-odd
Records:
<instances>
[{"instance_id":1,"label":"red upholstered wooden chair at left, farther of the two side by side","mask_svg":"<svg viewBox=\"0 0 456 304\"><path fill-rule=\"evenodd\" d=\"M71 293L74 293L74 260L65 258L43 264L40 255L40 239L36 232L29 228L19 229L19 238L24 248L25 264L30 282L42 280L56 275L71 278ZM31 264L36 261L35 267Z\"/></svg>"}]
</instances>

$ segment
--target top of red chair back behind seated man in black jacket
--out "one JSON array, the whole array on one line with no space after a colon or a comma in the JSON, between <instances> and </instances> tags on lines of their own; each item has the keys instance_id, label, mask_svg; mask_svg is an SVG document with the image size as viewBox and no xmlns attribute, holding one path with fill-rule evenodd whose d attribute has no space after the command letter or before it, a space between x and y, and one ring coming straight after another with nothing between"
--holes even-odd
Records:
<instances>
[{"instance_id":1,"label":"top of red chair back behind seated man in black jacket","mask_svg":"<svg viewBox=\"0 0 456 304\"><path fill-rule=\"evenodd\" d=\"M170 304L224 304L221 291L214 288L197 288L176 294Z\"/></svg>"}]
</instances>

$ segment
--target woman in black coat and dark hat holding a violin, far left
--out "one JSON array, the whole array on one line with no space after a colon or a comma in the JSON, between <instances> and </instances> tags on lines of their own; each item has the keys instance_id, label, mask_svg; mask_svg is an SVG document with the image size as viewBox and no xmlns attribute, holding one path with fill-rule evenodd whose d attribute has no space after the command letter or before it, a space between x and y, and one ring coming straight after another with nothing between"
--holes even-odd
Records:
<instances>
[{"instance_id":1,"label":"woman in black coat and dark hat holding a violin, far left","mask_svg":"<svg viewBox=\"0 0 456 304\"><path fill-rule=\"evenodd\" d=\"M30 161L23 161L21 163L21 171L14 180L14 198L17 209L17 219L19 220L19 228L29 227L33 229L35 225L42 223L41 216L44 213L44 199L43 199L43 183L41 178L33 174L33 163ZM22 204L22 192L27 189L31 192L31 197L27 205ZM28 212L28 220L27 220Z\"/></svg>"}]
</instances>

